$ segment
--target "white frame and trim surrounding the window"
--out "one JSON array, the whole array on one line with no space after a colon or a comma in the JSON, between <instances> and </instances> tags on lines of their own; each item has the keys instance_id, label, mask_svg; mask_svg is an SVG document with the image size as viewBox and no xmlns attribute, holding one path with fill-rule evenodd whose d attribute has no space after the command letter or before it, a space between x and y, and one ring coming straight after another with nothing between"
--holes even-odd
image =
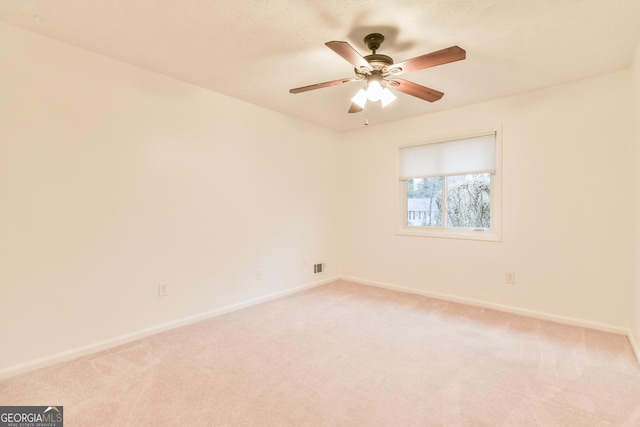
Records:
<instances>
[{"instance_id":1,"label":"white frame and trim surrounding the window","mask_svg":"<svg viewBox=\"0 0 640 427\"><path fill-rule=\"evenodd\" d=\"M491 227L489 229L420 227L407 225L407 181L400 180L400 150L426 144L437 144L458 139L495 134L496 136L496 172L491 176ZM402 236L422 236L452 239L485 240L500 242L502 240L502 129L490 129L468 132L455 136L432 139L398 147L396 159L396 178L398 180L398 229L396 234ZM444 214L444 213L443 213Z\"/></svg>"}]
</instances>

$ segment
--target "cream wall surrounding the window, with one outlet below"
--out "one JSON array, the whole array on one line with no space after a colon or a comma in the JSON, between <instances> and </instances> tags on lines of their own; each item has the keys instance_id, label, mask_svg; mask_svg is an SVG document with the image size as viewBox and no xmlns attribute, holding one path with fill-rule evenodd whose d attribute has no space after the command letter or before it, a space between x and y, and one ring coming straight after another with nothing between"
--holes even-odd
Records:
<instances>
[{"instance_id":1,"label":"cream wall surrounding the window, with one outlet below","mask_svg":"<svg viewBox=\"0 0 640 427\"><path fill-rule=\"evenodd\" d=\"M628 329L634 315L630 73L345 137L343 274ZM407 237L398 221L398 146L500 125L502 242ZM505 272L516 285L505 284Z\"/></svg>"}]
</instances>

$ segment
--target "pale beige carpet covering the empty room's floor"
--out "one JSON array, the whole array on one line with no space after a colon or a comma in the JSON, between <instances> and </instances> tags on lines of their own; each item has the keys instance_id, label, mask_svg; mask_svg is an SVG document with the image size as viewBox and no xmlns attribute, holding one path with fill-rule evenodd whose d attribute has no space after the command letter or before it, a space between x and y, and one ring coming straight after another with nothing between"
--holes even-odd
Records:
<instances>
[{"instance_id":1,"label":"pale beige carpet covering the empty room's floor","mask_svg":"<svg viewBox=\"0 0 640 427\"><path fill-rule=\"evenodd\" d=\"M626 337L334 282L0 382L65 426L640 426Z\"/></svg>"}]
</instances>

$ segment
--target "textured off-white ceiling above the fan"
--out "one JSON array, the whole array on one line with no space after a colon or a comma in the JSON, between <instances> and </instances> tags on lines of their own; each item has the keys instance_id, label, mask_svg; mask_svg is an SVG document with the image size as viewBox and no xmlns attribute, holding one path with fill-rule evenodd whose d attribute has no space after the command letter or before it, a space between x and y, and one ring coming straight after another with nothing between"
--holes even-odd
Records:
<instances>
[{"instance_id":1,"label":"textured off-white ceiling above the fan","mask_svg":"<svg viewBox=\"0 0 640 427\"><path fill-rule=\"evenodd\" d=\"M639 0L0 0L0 22L320 125L348 131L362 86L290 88L353 76L324 46L381 32L396 62L458 45L467 59L406 80L445 93L435 103L396 93L371 125L552 86L629 66Z\"/></svg>"}]
</instances>

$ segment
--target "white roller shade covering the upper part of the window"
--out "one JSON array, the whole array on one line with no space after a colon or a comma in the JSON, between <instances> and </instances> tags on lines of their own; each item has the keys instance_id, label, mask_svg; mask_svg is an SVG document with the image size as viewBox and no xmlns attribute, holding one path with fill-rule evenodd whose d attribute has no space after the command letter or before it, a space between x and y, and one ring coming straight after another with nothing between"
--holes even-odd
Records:
<instances>
[{"instance_id":1,"label":"white roller shade covering the upper part of the window","mask_svg":"<svg viewBox=\"0 0 640 427\"><path fill-rule=\"evenodd\" d=\"M400 148L401 180L495 171L495 133Z\"/></svg>"}]
</instances>

